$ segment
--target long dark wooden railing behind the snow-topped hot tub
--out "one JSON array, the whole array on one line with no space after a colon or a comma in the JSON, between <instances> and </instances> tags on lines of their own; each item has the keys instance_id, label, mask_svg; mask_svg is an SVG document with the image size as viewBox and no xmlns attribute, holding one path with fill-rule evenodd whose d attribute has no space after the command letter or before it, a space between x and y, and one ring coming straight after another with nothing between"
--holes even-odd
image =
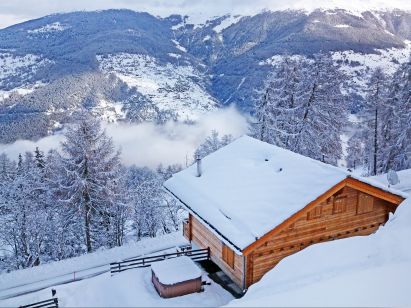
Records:
<instances>
[{"instance_id":1,"label":"long dark wooden railing behind the snow-topped hot tub","mask_svg":"<svg viewBox=\"0 0 411 308\"><path fill-rule=\"evenodd\" d=\"M110 263L110 272L111 274L114 274L133 268L148 267L154 262L163 261L166 259L176 258L180 256L190 257L193 261L210 260L210 248L180 251L163 255L129 259L121 262L113 262Z\"/></svg>"}]
</instances>

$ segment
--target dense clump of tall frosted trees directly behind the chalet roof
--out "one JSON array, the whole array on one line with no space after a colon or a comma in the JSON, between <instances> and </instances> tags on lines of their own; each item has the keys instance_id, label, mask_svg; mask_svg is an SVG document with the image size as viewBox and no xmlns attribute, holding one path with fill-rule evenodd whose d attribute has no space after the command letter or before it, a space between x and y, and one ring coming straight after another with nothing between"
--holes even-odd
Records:
<instances>
[{"instance_id":1,"label":"dense clump of tall frosted trees directly behind the chalet roof","mask_svg":"<svg viewBox=\"0 0 411 308\"><path fill-rule=\"evenodd\" d=\"M268 78L257 118L259 138L314 159L336 164L346 106L342 75L326 54L314 60L285 57Z\"/></svg>"}]
</instances>

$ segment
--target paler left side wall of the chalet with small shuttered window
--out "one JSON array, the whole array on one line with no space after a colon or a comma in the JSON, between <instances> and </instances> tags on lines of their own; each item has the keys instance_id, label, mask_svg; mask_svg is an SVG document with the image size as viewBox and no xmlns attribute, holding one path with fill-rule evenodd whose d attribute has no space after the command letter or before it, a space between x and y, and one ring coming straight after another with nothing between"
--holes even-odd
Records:
<instances>
[{"instance_id":1,"label":"paler left side wall of the chalet with small shuttered window","mask_svg":"<svg viewBox=\"0 0 411 308\"><path fill-rule=\"evenodd\" d=\"M189 221L191 224L191 240L200 248L210 247L211 260L217 264L240 288L243 288L243 256L232 253L232 250L229 249L229 247L226 247L223 242L208 229L208 227L202 224L191 214ZM233 267L223 260L223 249L225 258L229 255L229 263L231 263ZM234 260L232 260L233 255Z\"/></svg>"}]
</instances>

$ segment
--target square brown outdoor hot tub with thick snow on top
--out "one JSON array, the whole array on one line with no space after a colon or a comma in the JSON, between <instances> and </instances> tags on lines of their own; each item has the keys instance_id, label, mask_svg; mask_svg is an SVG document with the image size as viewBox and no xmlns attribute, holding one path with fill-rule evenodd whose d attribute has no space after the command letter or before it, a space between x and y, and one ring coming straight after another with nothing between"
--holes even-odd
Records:
<instances>
[{"instance_id":1,"label":"square brown outdoor hot tub with thick snow on top","mask_svg":"<svg viewBox=\"0 0 411 308\"><path fill-rule=\"evenodd\" d=\"M151 274L153 285L163 298L201 291L201 270L187 256L155 262Z\"/></svg>"}]
</instances>

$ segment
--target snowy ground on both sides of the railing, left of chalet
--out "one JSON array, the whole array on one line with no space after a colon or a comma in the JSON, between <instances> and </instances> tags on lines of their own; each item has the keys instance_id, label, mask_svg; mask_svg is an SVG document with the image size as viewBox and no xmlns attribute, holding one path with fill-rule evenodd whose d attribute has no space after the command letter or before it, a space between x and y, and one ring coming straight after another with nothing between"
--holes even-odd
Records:
<instances>
[{"instance_id":1,"label":"snowy ground on both sides of the railing, left of chalet","mask_svg":"<svg viewBox=\"0 0 411 308\"><path fill-rule=\"evenodd\" d=\"M210 281L207 274L197 266L195 266L195 274L201 275L202 280L211 282L211 285L204 286L205 291L202 293L194 293L173 299L163 299L157 294L151 282L150 267L133 269L113 276L110 273L103 273L91 278L84 277L86 279L81 281L70 282L68 280L64 284L50 278L73 270L77 270L76 274L79 274L81 273L79 270L84 267L95 267L99 264L106 264L107 262L129 258L138 254L150 255L158 250L182 244L187 244L187 241L181 233L174 233L154 239L146 239L134 245L99 251L78 258L0 275L0 289L47 278L48 281L52 282L45 285L43 290L39 289L40 291L34 293L0 300L0 307L20 306L48 299L51 297L52 288L57 290L61 307L216 307L226 305L233 299L232 295L218 284ZM163 253L163 251L160 253ZM173 259L170 259L170 261L173 262ZM189 261L191 262L191 260ZM108 269L108 265L105 268ZM55 283L53 284L53 282ZM1 294L0 290L0 298L2 297Z\"/></svg>"}]
</instances>

